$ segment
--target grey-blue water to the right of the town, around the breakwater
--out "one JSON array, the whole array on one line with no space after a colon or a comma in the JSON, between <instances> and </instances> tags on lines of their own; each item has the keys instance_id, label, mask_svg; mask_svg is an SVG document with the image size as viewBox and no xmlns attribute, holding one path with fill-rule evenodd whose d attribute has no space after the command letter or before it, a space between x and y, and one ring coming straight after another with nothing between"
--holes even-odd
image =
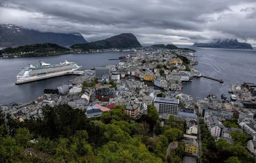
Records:
<instances>
[{"instance_id":1,"label":"grey-blue water to the right of the town, around the breakwater","mask_svg":"<svg viewBox=\"0 0 256 163\"><path fill-rule=\"evenodd\" d=\"M232 83L256 83L256 50L194 48L199 64L195 66L202 75L222 79L219 83L206 78L194 78L192 82L183 82L181 92L190 94L193 100L216 94L227 94ZM223 85L222 85L223 84Z\"/></svg>"}]
</instances>

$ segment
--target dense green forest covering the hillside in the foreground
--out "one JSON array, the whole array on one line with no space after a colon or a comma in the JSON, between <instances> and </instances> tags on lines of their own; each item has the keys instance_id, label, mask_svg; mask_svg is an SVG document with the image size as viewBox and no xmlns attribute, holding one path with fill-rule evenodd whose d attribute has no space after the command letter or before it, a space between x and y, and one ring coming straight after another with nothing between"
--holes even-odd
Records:
<instances>
[{"instance_id":1,"label":"dense green forest covering the hillside in the foreground","mask_svg":"<svg viewBox=\"0 0 256 163\"><path fill-rule=\"evenodd\" d=\"M68 105L43 108L44 118L17 122L0 113L0 162L5 163L180 163L184 146L165 157L168 143L180 139L183 121L160 127L158 112L136 123L115 106L101 117ZM152 133L162 136L152 137Z\"/></svg>"}]
</instances>

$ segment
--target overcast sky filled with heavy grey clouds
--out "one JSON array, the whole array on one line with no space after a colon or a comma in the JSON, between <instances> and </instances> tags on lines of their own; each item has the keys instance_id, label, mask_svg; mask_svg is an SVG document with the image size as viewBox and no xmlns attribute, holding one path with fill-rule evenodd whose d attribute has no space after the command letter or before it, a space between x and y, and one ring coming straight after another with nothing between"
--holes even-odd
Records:
<instances>
[{"instance_id":1,"label":"overcast sky filled with heavy grey clouds","mask_svg":"<svg viewBox=\"0 0 256 163\"><path fill-rule=\"evenodd\" d=\"M0 23L81 33L133 33L140 43L237 38L256 45L256 0L0 0Z\"/></svg>"}]
</instances>

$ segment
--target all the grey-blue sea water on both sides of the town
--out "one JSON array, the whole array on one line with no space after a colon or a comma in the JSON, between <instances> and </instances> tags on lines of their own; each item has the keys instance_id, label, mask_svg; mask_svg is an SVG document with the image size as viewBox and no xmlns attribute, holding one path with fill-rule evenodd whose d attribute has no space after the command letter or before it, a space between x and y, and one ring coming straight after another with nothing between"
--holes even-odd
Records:
<instances>
[{"instance_id":1,"label":"all the grey-blue sea water on both sides of the town","mask_svg":"<svg viewBox=\"0 0 256 163\"><path fill-rule=\"evenodd\" d=\"M256 83L256 50L194 48L197 50L195 60L199 64L195 67L202 75L214 78L222 78L223 85L219 82L195 78L192 82L183 83L182 92L192 95L194 100L206 97L208 94L220 95L228 93L232 83L255 82ZM130 52L124 52L124 55ZM103 52L93 54L67 54L48 57L27 57L0 60L0 104L12 102L28 102L43 94L45 88L57 88L61 84L68 84L68 80L74 76L67 75L43 81L15 85L16 75L21 68L27 67L27 63L36 65L39 60L45 63L59 63L65 59L82 65L82 69L94 66L103 66L119 63L119 60L108 60L122 55L120 52Z\"/></svg>"}]
</instances>

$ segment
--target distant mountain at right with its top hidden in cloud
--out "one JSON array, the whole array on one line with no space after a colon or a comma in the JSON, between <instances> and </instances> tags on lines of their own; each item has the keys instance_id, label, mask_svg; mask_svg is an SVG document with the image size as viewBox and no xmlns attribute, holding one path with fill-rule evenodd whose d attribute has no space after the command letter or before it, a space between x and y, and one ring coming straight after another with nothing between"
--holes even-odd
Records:
<instances>
[{"instance_id":1,"label":"distant mountain at right with its top hidden in cloud","mask_svg":"<svg viewBox=\"0 0 256 163\"><path fill-rule=\"evenodd\" d=\"M245 42L238 42L237 39L215 39L211 43L195 43L193 46L203 48L253 49L252 45Z\"/></svg>"}]
</instances>

